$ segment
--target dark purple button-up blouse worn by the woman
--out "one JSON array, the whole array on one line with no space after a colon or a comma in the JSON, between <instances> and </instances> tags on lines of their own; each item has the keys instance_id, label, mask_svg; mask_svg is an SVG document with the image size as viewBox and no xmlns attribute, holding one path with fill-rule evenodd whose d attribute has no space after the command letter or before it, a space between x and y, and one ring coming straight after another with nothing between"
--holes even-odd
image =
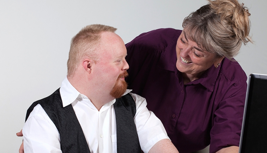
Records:
<instances>
[{"instance_id":1,"label":"dark purple button-up blouse worn by the woman","mask_svg":"<svg viewBox=\"0 0 267 153\"><path fill-rule=\"evenodd\" d=\"M238 146L246 97L246 74L238 62L223 59L198 80L184 84L176 68L181 30L157 29L126 44L126 81L162 121L180 153Z\"/></svg>"}]
</instances>

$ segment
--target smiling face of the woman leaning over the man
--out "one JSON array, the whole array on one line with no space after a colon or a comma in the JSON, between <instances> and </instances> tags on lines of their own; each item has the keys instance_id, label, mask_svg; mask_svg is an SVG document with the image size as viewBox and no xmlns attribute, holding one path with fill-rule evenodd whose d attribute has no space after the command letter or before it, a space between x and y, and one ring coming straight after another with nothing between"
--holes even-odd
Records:
<instances>
[{"instance_id":1,"label":"smiling face of the woman leaning over the man","mask_svg":"<svg viewBox=\"0 0 267 153\"><path fill-rule=\"evenodd\" d=\"M215 53L202 50L198 45L188 39L183 31L176 44L177 69L193 77L199 77L202 72L217 65L223 58L216 58Z\"/></svg>"}]
</instances>

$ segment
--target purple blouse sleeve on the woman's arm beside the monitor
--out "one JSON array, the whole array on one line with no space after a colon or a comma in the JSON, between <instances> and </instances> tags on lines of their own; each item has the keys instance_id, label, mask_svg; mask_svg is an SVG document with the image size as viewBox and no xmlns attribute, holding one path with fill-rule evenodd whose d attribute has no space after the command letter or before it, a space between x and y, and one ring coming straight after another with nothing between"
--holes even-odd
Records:
<instances>
[{"instance_id":1,"label":"purple blouse sleeve on the woman's arm beside the monitor","mask_svg":"<svg viewBox=\"0 0 267 153\"><path fill-rule=\"evenodd\" d=\"M239 146L242 119L246 99L246 78L226 89L213 114L210 152L223 147ZM218 93L217 93L218 94Z\"/></svg>"}]
</instances>

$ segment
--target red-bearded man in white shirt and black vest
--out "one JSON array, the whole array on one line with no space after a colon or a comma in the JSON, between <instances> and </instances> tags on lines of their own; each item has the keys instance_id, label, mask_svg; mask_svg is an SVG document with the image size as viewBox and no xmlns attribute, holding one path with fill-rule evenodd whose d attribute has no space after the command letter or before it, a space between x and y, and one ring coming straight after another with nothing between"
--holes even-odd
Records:
<instances>
[{"instance_id":1,"label":"red-bearded man in white shirt and black vest","mask_svg":"<svg viewBox=\"0 0 267 153\"><path fill-rule=\"evenodd\" d=\"M25 153L178 152L145 99L126 90L127 52L115 31L93 24L72 38L60 89L27 112Z\"/></svg>"}]
</instances>

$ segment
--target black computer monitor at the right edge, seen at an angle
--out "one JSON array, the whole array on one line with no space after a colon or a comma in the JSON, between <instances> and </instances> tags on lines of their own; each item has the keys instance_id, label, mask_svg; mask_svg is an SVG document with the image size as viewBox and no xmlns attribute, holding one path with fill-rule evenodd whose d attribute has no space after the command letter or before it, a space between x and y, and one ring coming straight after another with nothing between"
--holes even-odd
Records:
<instances>
[{"instance_id":1,"label":"black computer monitor at the right edge, seen at an angle","mask_svg":"<svg viewBox=\"0 0 267 153\"><path fill-rule=\"evenodd\" d=\"M267 153L267 76L251 74L240 153Z\"/></svg>"}]
</instances>

